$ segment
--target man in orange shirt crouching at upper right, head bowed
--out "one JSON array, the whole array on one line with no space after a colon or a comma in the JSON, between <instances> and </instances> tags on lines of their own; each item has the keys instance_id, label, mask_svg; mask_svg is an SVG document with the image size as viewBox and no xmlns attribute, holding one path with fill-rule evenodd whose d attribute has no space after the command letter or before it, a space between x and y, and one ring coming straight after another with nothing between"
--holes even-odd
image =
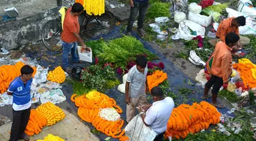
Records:
<instances>
[{"instance_id":1,"label":"man in orange shirt crouching at upper right, head bowed","mask_svg":"<svg viewBox=\"0 0 256 141\"><path fill-rule=\"evenodd\" d=\"M244 16L239 16L237 18L231 17L223 20L223 22L221 22L221 24L218 26L216 39L210 40L209 43L215 46L218 41L225 42L227 33L236 33L236 35L239 35L239 26L244 26L245 22L246 18ZM240 49L242 46L248 45L249 43L250 39L240 36L240 40L234 49Z\"/></svg>"}]
</instances>

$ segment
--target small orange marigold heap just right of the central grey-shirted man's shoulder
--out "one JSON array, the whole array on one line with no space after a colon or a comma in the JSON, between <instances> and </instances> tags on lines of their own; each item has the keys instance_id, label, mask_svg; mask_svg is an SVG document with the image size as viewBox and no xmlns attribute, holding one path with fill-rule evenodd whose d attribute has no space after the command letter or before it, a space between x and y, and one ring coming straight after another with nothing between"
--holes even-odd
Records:
<instances>
[{"instance_id":1,"label":"small orange marigold heap just right of the central grey-shirted man's shoulder","mask_svg":"<svg viewBox=\"0 0 256 141\"><path fill-rule=\"evenodd\" d=\"M154 71L153 75L148 75L147 76L147 85L148 88L151 89L153 87L157 87L160 83L165 81L165 79L168 79L167 73L164 73L163 71Z\"/></svg>"}]
</instances>

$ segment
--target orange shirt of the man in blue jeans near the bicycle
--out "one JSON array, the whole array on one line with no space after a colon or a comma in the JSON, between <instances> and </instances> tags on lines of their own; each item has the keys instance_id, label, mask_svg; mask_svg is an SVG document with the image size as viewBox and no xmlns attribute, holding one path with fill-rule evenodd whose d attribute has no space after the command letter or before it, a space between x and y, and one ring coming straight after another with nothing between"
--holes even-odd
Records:
<instances>
[{"instance_id":1,"label":"orange shirt of the man in blue jeans near the bicycle","mask_svg":"<svg viewBox=\"0 0 256 141\"><path fill-rule=\"evenodd\" d=\"M61 33L61 40L66 43L72 43L77 41L73 33L79 33L79 16L72 16L70 14L71 8L66 12L66 16L63 22L63 32Z\"/></svg>"}]
</instances>

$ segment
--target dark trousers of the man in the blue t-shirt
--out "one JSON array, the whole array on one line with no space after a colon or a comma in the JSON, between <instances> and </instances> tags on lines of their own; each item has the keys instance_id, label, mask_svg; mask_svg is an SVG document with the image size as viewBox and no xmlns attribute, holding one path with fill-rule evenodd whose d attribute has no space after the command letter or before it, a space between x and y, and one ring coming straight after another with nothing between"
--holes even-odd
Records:
<instances>
[{"instance_id":1,"label":"dark trousers of the man in the blue t-shirt","mask_svg":"<svg viewBox=\"0 0 256 141\"><path fill-rule=\"evenodd\" d=\"M23 136L27 123L29 122L30 110L31 108L18 111L12 109L13 122L10 141L18 141L18 138Z\"/></svg>"}]
</instances>

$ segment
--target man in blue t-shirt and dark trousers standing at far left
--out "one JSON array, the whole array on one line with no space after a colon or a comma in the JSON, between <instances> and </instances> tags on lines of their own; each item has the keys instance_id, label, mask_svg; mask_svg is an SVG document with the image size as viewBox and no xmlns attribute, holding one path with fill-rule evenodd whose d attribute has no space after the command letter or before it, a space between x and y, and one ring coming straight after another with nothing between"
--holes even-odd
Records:
<instances>
[{"instance_id":1,"label":"man in blue t-shirt and dark trousers standing at far left","mask_svg":"<svg viewBox=\"0 0 256 141\"><path fill-rule=\"evenodd\" d=\"M7 92L8 95L13 96L13 122L9 141L29 140L29 136L25 134L25 129L29 122L31 110L30 89L33 68L25 65L20 69L20 73L20 77L17 77L10 83Z\"/></svg>"}]
</instances>

